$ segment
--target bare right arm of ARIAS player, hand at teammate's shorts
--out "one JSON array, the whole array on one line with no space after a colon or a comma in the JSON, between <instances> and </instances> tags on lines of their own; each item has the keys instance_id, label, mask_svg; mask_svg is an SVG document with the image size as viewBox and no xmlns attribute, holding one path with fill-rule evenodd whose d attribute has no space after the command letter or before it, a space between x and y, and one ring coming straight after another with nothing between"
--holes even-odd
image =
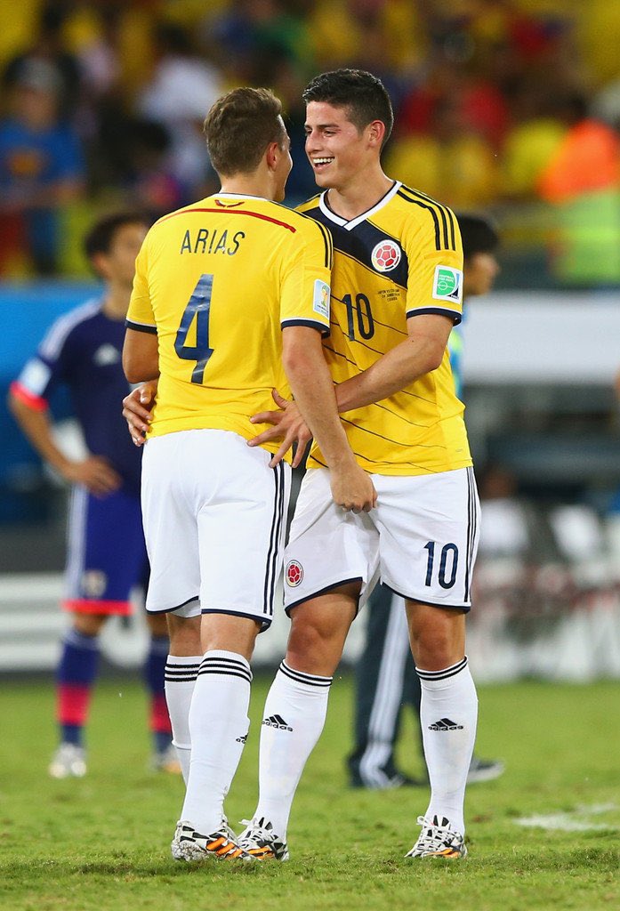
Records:
<instances>
[{"instance_id":1,"label":"bare right arm of ARIAS player, hand at teammate's shorts","mask_svg":"<svg viewBox=\"0 0 620 911\"><path fill-rule=\"evenodd\" d=\"M320 333L310 326L285 326L282 363L300 413L330 468L334 501L353 512L369 512L377 492L370 476L356 462L340 423Z\"/></svg>"}]
</instances>

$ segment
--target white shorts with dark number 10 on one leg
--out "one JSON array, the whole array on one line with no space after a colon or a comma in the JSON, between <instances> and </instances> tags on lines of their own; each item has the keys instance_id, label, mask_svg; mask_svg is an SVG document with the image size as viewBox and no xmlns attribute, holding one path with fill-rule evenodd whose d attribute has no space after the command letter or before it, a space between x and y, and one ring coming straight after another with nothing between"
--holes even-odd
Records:
<instances>
[{"instance_id":1,"label":"white shorts with dark number 10 on one leg","mask_svg":"<svg viewBox=\"0 0 620 911\"><path fill-rule=\"evenodd\" d=\"M361 581L363 604L379 578L402 598L469 610L480 527L473 468L372 482L377 506L356 516L331 499L326 468L306 473L284 558L287 612L351 581Z\"/></svg>"}]
</instances>

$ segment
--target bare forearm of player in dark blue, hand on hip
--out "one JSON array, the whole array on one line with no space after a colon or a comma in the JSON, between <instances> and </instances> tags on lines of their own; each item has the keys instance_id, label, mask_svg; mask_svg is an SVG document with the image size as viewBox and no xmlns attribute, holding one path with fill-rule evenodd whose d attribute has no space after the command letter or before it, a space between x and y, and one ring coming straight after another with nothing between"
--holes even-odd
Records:
<instances>
[{"instance_id":1,"label":"bare forearm of player in dark blue, hand on hip","mask_svg":"<svg viewBox=\"0 0 620 911\"><path fill-rule=\"evenodd\" d=\"M106 496L120 486L120 476L106 459L99 455L70 459L58 448L45 400L27 394L19 384L14 383L9 392L8 407L36 452L66 481L84 485L96 496Z\"/></svg>"}]
</instances>

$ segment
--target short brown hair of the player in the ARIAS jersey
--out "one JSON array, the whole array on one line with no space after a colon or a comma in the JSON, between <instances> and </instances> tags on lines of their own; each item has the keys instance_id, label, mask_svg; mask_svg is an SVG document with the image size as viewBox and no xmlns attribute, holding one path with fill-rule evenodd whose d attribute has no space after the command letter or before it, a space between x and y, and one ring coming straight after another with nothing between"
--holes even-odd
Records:
<instances>
[{"instance_id":1,"label":"short brown hair of the player in the ARIAS jersey","mask_svg":"<svg viewBox=\"0 0 620 911\"><path fill-rule=\"evenodd\" d=\"M250 173L271 142L280 148L282 105L268 88L234 88L210 108L204 124L208 154L218 174Z\"/></svg>"}]
</instances>

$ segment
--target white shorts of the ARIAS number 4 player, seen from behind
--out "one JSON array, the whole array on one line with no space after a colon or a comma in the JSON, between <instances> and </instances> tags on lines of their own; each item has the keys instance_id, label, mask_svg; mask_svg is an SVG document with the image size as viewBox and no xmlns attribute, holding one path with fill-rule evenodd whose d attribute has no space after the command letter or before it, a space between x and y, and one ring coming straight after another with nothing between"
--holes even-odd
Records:
<instances>
[{"instance_id":1,"label":"white shorts of the ARIAS number 4 player, seen from behind","mask_svg":"<svg viewBox=\"0 0 620 911\"><path fill-rule=\"evenodd\" d=\"M236 614L267 629L280 577L290 466L226 430L147 441L142 512L147 610Z\"/></svg>"}]
</instances>

